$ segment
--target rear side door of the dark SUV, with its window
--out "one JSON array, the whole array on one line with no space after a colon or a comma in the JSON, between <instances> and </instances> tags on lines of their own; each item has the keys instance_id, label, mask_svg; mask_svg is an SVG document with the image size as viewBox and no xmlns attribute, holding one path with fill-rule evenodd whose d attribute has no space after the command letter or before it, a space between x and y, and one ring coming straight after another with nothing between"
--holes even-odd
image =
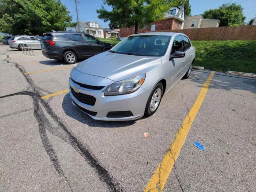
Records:
<instances>
[{"instance_id":1,"label":"rear side door of the dark SUV, with its window","mask_svg":"<svg viewBox=\"0 0 256 192\"><path fill-rule=\"evenodd\" d=\"M70 33L68 34L68 43L71 48L76 50L78 58L86 58L88 56L88 45L85 42L82 34Z\"/></svg>"}]
</instances>

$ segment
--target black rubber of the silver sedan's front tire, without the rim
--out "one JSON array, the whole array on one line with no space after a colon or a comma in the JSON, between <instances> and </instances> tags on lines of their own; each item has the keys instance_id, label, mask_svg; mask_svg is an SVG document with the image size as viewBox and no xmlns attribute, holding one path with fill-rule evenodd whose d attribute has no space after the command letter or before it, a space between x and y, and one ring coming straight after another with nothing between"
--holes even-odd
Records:
<instances>
[{"instance_id":1,"label":"black rubber of the silver sedan's front tire, without the rim","mask_svg":"<svg viewBox=\"0 0 256 192\"><path fill-rule=\"evenodd\" d=\"M160 96L160 100L156 106L156 108L154 110L152 110L152 106L150 106L151 104L151 100L152 100L152 97L153 97L153 94L155 94L156 90L160 89L161 90L161 96ZM144 116L145 117L149 117L151 116L152 114L154 114L156 112L156 110L158 109L160 103L161 103L161 100L162 100L162 97L163 97L163 94L164 94L164 87L163 87L163 84L162 83L158 83L153 91L151 92L149 98L148 98L148 102L146 104L146 108L145 108L145 112L144 112ZM154 101L155 102L155 101ZM156 103L156 102L155 102Z\"/></svg>"}]
</instances>

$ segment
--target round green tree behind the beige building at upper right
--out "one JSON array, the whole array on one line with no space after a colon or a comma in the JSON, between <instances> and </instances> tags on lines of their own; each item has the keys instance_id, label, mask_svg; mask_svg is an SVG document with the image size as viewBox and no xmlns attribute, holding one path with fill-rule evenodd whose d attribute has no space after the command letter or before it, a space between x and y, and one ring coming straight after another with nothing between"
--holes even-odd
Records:
<instances>
[{"instance_id":1,"label":"round green tree behind the beige building at upper right","mask_svg":"<svg viewBox=\"0 0 256 192\"><path fill-rule=\"evenodd\" d=\"M210 9L202 15L205 19L219 19L220 26L244 25L246 17L243 14L244 8L235 3L226 3L218 9Z\"/></svg>"}]
</instances>

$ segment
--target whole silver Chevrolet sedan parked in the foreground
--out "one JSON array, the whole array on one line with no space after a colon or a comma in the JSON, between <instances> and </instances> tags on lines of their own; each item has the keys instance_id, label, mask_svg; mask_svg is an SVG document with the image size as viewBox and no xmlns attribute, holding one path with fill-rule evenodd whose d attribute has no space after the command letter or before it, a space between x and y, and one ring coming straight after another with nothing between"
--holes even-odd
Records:
<instances>
[{"instance_id":1,"label":"whole silver Chevrolet sedan parked in the foreground","mask_svg":"<svg viewBox=\"0 0 256 192\"><path fill-rule=\"evenodd\" d=\"M195 48L182 33L134 34L72 69L72 103L96 120L135 120L156 112L162 96L188 78Z\"/></svg>"}]
</instances>

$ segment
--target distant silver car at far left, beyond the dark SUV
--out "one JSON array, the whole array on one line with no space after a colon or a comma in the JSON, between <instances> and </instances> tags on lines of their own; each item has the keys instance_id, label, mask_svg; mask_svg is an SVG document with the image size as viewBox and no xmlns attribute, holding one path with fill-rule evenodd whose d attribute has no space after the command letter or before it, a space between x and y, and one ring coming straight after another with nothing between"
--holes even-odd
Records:
<instances>
[{"instance_id":1,"label":"distant silver car at far left, beyond the dark SUV","mask_svg":"<svg viewBox=\"0 0 256 192\"><path fill-rule=\"evenodd\" d=\"M8 43L10 48L15 48L18 50L22 50L22 45L29 47L31 46L32 49L41 49L40 39L33 36L13 36L8 40Z\"/></svg>"}]
</instances>

